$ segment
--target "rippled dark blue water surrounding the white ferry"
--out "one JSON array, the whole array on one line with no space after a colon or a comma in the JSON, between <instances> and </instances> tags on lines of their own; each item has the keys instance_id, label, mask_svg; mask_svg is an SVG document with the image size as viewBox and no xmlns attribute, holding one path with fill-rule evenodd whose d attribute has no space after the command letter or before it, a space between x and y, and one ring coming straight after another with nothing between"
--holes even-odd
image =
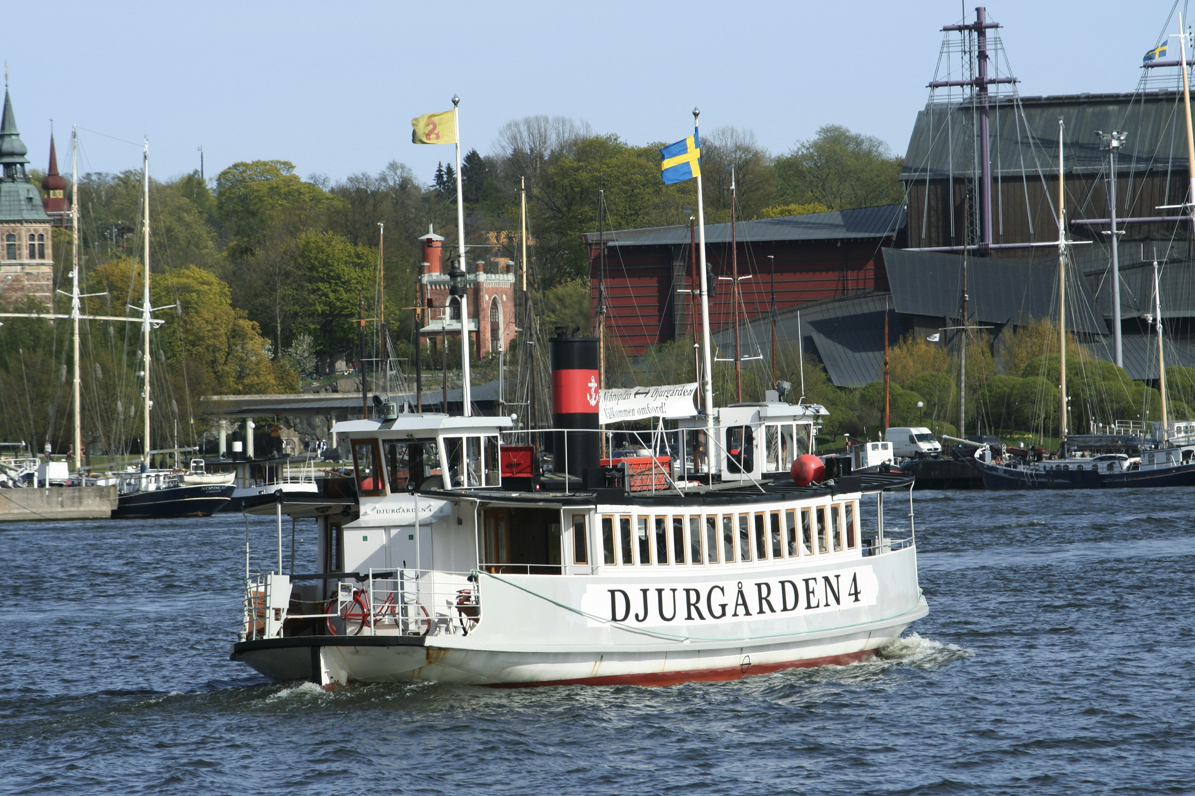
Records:
<instances>
[{"instance_id":1,"label":"rippled dark blue water surrounding the white ferry","mask_svg":"<svg viewBox=\"0 0 1195 796\"><path fill-rule=\"evenodd\" d=\"M1189 792L1193 509L923 492L931 613L882 660L517 691L324 693L229 662L239 516L10 526L0 791ZM274 527L252 535L268 568Z\"/></svg>"}]
</instances>

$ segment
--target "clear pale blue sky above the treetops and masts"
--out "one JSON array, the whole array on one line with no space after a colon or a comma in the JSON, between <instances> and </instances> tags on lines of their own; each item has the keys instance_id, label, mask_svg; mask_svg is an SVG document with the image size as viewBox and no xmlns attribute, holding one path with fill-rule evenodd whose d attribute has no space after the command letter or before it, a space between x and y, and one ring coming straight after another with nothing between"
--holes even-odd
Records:
<instances>
[{"instance_id":1,"label":"clear pale blue sky above the treetops and masts","mask_svg":"<svg viewBox=\"0 0 1195 796\"><path fill-rule=\"evenodd\" d=\"M1187 0L1179 0L1179 11ZM994 0L1024 97L1130 92L1173 0ZM467 151L544 114L631 143L733 124L773 153L845 124L903 153L940 27L964 4L902 2L56 2L6 4L0 44L31 166L50 120L69 171L281 159L333 182L391 160L430 182L452 147L411 143L410 120L461 98ZM966 4L968 20L974 4ZM1177 22L1170 27L1177 30ZM1172 31L1171 31L1172 32Z\"/></svg>"}]
</instances>

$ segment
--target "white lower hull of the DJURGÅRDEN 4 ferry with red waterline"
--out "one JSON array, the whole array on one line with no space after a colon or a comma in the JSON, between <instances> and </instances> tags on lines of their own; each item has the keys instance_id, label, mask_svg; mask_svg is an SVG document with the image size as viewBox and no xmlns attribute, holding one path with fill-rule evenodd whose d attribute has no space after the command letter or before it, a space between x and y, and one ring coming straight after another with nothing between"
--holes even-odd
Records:
<instances>
[{"instance_id":1,"label":"white lower hull of the DJURG\u00c5RDEN 4 ferry with red waterline","mask_svg":"<svg viewBox=\"0 0 1195 796\"><path fill-rule=\"evenodd\" d=\"M232 660L274 680L311 680L324 686L351 681L511 687L670 685L846 665L891 643L911 623L929 613L917 587L914 549L852 563L874 567L882 584L869 607L810 612L804 617L777 612L753 622L645 629L595 623L562 607L581 605L586 586L603 589L626 584L625 578L488 577L482 582L482 602L488 613L468 636L270 638L235 644ZM817 580L832 571L815 567L773 570L760 577ZM752 575L734 577L741 577L750 590ZM584 581L580 588L578 581ZM534 629L552 632L531 632ZM541 643L529 643L531 635Z\"/></svg>"}]
</instances>

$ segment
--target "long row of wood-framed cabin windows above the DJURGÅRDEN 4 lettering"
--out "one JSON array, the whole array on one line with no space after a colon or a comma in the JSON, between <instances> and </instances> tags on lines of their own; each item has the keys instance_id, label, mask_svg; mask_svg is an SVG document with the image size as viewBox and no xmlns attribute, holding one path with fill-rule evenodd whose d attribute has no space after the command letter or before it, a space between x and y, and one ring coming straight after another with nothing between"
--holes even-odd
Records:
<instances>
[{"instance_id":1,"label":"long row of wood-framed cabin windows above the DJURG\u00c5RDEN 4 lettering","mask_svg":"<svg viewBox=\"0 0 1195 796\"><path fill-rule=\"evenodd\" d=\"M733 564L856 550L857 518L856 501L750 514L606 515L601 518L602 563ZM572 545L574 563L587 563L581 515L574 516Z\"/></svg>"}]
</instances>

